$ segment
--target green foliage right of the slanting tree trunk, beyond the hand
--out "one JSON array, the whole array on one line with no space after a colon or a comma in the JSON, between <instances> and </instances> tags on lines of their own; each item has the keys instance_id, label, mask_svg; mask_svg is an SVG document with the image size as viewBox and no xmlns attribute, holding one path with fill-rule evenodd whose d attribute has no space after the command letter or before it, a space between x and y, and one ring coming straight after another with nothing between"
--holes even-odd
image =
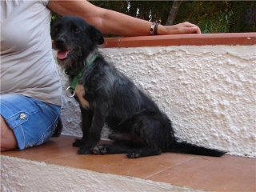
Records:
<instances>
[{"instance_id":1,"label":"green foliage right of the slanting tree trunk, beyond the hand","mask_svg":"<svg viewBox=\"0 0 256 192\"><path fill-rule=\"evenodd\" d=\"M256 31L255 1L183 2L175 23L189 21L202 33L239 33Z\"/></svg>"}]
</instances>

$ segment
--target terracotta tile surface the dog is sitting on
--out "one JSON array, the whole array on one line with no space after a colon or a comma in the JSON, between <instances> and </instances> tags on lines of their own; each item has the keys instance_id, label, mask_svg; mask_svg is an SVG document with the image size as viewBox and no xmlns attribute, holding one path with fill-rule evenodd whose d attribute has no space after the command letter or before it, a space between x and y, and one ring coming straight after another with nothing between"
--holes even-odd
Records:
<instances>
[{"instance_id":1,"label":"terracotta tile surface the dog is sitting on","mask_svg":"<svg viewBox=\"0 0 256 192\"><path fill-rule=\"evenodd\" d=\"M210 191L256 191L256 158L225 155L211 158L190 154L161 154L130 159L125 154L78 155L74 137L62 135L22 151L3 152L18 158L94 170L108 174L166 182Z\"/></svg>"}]
</instances>

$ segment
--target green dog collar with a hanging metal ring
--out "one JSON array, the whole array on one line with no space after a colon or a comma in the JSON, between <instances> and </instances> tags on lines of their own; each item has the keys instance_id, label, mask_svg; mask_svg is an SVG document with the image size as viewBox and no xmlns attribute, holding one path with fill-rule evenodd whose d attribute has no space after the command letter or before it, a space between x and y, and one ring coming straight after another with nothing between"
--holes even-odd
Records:
<instances>
[{"instance_id":1,"label":"green dog collar with a hanging metal ring","mask_svg":"<svg viewBox=\"0 0 256 192\"><path fill-rule=\"evenodd\" d=\"M90 66L90 65L95 61L95 59L96 59L97 57L98 57L97 51L94 51L92 54L90 54L90 55L88 56L88 58L86 58L86 67ZM79 79L82 78L83 72L84 72L84 69L81 70L76 76L74 76L73 81L72 81L72 83L71 83L71 86L69 86L69 87L66 88L66 95L67 95L69 98L73 98L73 97L74 97L74 94L75 94L75 93L74 93L75 87L78 85ZM70 90L70 89L71 89L71 91L73 92L73 93L71 92L71 94L68 93L68 90Z\"/></svg>"}]
</instances>

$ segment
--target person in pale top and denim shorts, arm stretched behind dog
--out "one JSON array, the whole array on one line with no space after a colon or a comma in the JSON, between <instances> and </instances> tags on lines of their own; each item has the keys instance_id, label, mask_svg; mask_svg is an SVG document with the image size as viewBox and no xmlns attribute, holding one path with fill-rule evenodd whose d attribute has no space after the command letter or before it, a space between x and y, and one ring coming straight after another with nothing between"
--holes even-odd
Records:
<instances>
[{"instance_id":1,"label":"person in pale top and denim shorts, arm stretched behind dog","mask_svg":"<svg viewBox=\"0 0 256 192\"><path fill-rule=\"evenodd\" d=\"M54 134L62 84L50 38L50 11L84 18L104 34L200 34L182 22L155 25L87 1L1 1L1 151L38 146ZM157 26L157 29L155 28Z\"/></svg>"}]
</instances>

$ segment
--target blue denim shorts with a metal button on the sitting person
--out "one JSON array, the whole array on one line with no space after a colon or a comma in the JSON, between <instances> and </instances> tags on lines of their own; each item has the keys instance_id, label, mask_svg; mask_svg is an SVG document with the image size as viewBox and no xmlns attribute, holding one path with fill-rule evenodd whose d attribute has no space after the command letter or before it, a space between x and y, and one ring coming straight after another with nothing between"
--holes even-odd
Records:
<instances>
[{"instance_id":1,"label":"blue denim shorts with a metal button on the sitting person","mask_svg":"<svg viewBox=\"0 0 256 192\"><path fill-rule=\"evenodd\" d=\"M13 130L18 149L24 150L46 142L58 124L60 106L20 94L0 95L0 114Z\"/></svg>"}]
</instances>

